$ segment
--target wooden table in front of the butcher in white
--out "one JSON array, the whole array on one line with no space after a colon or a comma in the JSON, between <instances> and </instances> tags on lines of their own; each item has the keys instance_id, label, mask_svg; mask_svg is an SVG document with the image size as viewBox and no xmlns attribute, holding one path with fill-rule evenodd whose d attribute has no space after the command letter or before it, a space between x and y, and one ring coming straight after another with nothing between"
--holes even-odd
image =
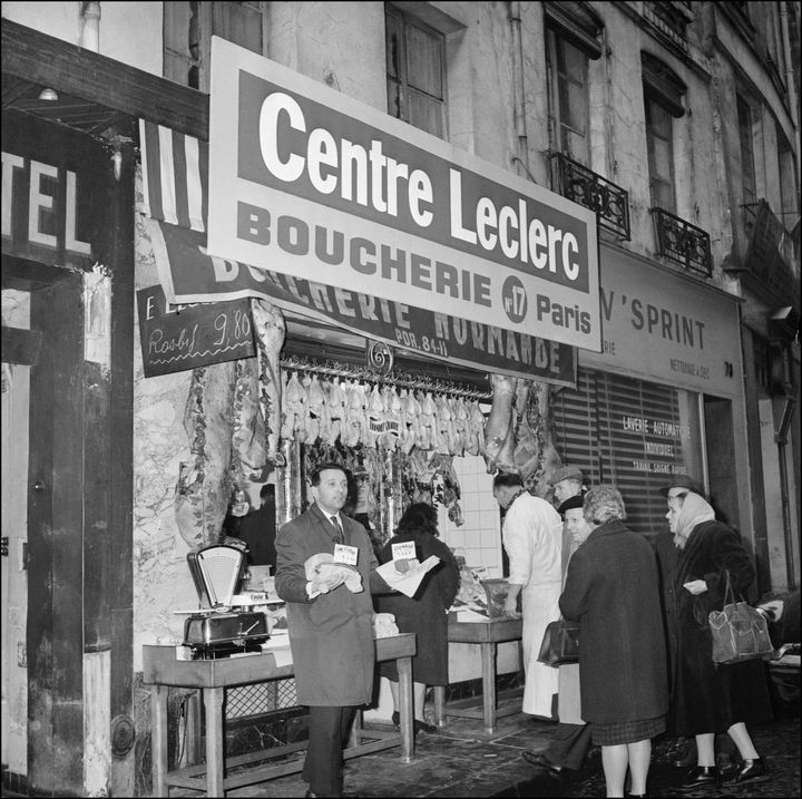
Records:
<instances>
[{"instance_id":1,"label":"wooden table in front of the butcher in white","mask_svg":"<svg viewBox=\"0 0 802 799\"><path fill-rule=\"evenodd\" d=\"M515 709L496 708L496 646L503 641L520 641L524 623L520 618L490 618L486 622L458 622L449 618L449 643L479 644L482 659L482 709L476 707L446 707L446 688L434 688L434 723L443 727L446 715L483 719L485 731L492 733L496 719L517 713Z\"/></svg>"}]
</instances>

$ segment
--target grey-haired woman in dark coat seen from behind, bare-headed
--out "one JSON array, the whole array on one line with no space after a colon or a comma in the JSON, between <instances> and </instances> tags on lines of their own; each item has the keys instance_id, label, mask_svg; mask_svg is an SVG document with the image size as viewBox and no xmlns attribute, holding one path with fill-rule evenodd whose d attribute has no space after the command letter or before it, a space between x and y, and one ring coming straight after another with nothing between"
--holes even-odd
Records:
<instances>
[{"instance_id":1,"label":"grey-haired woman in dark coat seen from behind, bare-headed","mask_svg":"<svg viewBox=\"0 0 802 799\"><path fill-rule=\"evenodd\" d=\"M591 488L583 505L593 533L574 553L560 596L579 622L583 719L602 747L608 797L646 795L652 738L668 710L663 618L654 550L632 533L624 500L612 486Z\"/></svg>"}]
</instances>

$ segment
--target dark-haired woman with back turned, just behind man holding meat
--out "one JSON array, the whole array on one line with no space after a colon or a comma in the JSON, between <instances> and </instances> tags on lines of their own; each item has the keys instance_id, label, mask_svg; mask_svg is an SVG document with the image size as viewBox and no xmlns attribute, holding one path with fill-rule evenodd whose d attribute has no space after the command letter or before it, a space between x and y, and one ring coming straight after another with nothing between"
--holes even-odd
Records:
<instances>
[{"instance_id":1,"label":"dark-haired woman with back turned, just behind man holding meat","mask_svg":"<svg viewBox=\"0 0 802 799\"><path fill-rule=\"evenodd\" d=\"M426 503L413 503L401 516L395 535L379 555L382 563L392 561L392 545L414 542L421 563L437 555L440 563L423 578L418 593L410 598L379 595L379 613L392 613L402 633L415 633L418 653L412 657L415 732L434 732L423 718L427 685L448 685L448 610L459 591L460 574L451 550L437 538L437 510ZM393 698L393 723L399 722L398 669L394 661L382 662L379 673L390 681Z\"/></svg>"}]
</instances>

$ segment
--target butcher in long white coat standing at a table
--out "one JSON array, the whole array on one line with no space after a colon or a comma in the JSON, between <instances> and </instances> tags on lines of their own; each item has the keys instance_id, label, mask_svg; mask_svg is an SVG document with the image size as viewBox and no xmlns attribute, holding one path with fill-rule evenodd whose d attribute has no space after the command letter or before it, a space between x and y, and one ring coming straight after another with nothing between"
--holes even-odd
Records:
<instances>
[{"instance_id":1,"label":"butcher in long white coat standing at a table","mask_svg":"<svg viewBox=\"0 0 802 799\"><path fill-rule=\"evenodd\" d=\"M526 491L518 475L496 475L493 497L506 510L501 528L509 558L506 615L519 615L516 605L518 595L521 596L526 676L521 710L550 719L559 669L538 663L537 656L546 625L559 618L563 519L549 503Z\"/></svg>"}]
</instances>

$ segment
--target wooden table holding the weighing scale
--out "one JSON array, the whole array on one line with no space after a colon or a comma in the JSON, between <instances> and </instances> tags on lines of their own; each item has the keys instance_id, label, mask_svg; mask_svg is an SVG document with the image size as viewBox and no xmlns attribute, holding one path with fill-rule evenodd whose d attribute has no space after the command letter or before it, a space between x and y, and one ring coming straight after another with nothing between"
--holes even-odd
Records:
<instances>
[{"instance_id":1,"label":"wooden table holding the weighing scale","mask_svg":"<svg viewBox=\"0 0 802 799\"><path fill-rule=\"evenodd\" d=\"M343 751L345 759L401 747L401 759L411 762L414 757L412 712L412 655L415 636L412 633L389 639L376 639L376 660L394 660L399 671L400 733L371 730L365 734L361 728L361 713L354 722L352 746ZM153 795L169 796L169 786L206 790L208 797L224 797L226 790L262 782L264 780L296 773L303 768L303 759L278 764L251 766L254 761L277 758L305 748L305 743L273 747L235 758L225 758L225 718L223 700L225 689L233 685L285 680L294 675L293 665L276 665L270 652L209 661L179 661L175 646L143 646L143 681L150 685L150 712L153 734ZM174 771L167 770L167 692L169 686L196 688L203 693L206 711L206 762ZM363 741L362 739L371 740ZM228 770L243 767L231 776Z\"/></svg>"}]
</instances>

